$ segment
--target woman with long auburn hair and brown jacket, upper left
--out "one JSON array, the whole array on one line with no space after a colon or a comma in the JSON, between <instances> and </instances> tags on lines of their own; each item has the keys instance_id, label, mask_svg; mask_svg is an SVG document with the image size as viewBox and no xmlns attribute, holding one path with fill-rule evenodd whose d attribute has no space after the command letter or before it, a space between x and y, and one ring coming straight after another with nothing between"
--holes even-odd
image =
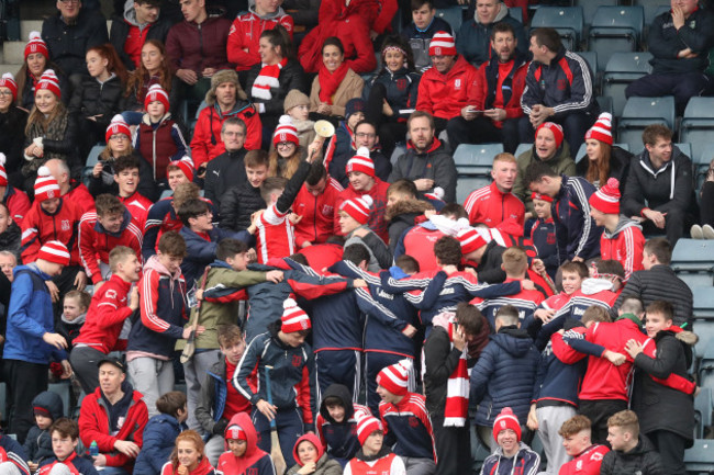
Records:
<instances>
[{"instance_id":1,"label":"woman with long auburn hair and brown jacket, upper left","mask_svg":"<svg viewBox=\"0 0 714 475\"><path fill-rule=\"evenodd\" d=\"M122 101L122 115L130 125L138 125L142 122L142 114L146 112L146 94L154 84L159 84L169 94L168 102L175 109L171 112L177 115L176 109L181 102L178 78L171 72L164 43L147 39L142 46L142 63L129 76Z\"/></svg>"}]
</instances>

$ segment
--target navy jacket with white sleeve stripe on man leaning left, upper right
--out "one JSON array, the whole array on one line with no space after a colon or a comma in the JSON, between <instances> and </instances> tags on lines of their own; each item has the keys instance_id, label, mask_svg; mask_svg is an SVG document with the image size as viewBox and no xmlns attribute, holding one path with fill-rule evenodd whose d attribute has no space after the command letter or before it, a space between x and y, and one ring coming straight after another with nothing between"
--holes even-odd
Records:
<instances>
[{"instance_id":1,"label":"navy jacket with white sleeve stripe on man leaning left, upper right","mask_svg":"<svg viewBox=\"0 0 714 475\"><path fill-rule=\"evenodd\" d=\"M577 113L596 116L600 108L592 89L592 71L579 55L560 48L550 64L528 64L521 108L526 115L536 104L553 108L556 120Z\"/></svg>"}]
</instances>

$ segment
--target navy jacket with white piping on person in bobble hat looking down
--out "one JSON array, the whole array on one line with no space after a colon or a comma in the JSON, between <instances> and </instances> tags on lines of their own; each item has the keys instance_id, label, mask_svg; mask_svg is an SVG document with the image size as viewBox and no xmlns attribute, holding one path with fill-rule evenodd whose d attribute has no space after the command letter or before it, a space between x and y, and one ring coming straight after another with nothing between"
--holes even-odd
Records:
<instances>
[{"instance_id":1,"label":"navy jacket with white piping on person in bobble hat looking down","mask_svg":"<svg viewBox=\"0 0 714 475\"><path fill-rule=\"evenodd\" d=\"M278 331L280 331L280 320L274 321L269 325L268 331L250 341L231 382L238 393L255 406L260 399L268 400L265 369L272 366L270 370L272 404L278 410L300 409L305 432L314 431L316 393L313 352L308 343L297 348L283 343L278 337ZM252 387L248 383L252 377L258 381L257 387Z\"/></svg>"}]
</instances>

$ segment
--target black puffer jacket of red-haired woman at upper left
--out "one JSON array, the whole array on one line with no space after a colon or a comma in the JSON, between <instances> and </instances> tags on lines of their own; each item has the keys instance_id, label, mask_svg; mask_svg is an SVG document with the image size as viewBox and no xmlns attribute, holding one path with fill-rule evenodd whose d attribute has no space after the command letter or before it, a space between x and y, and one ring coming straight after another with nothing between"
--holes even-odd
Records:
<instances>
[{"instance_id":1,"label":"black puffer jacket of red-haired woman at upper left","mask_svg":"<svg viewBox=\"0 0 714 475\"><path fill-rule=\"evenodd\" d=\"M71 94L69 113L75 114L77 120L101 115L97 120L97 124L102 129L107 128L114 114L122 111L120 102L123 92L124 86L116 76L104 83L94 78L86 77L82 80L81 88Z\"/></svg>"}]
</instances>

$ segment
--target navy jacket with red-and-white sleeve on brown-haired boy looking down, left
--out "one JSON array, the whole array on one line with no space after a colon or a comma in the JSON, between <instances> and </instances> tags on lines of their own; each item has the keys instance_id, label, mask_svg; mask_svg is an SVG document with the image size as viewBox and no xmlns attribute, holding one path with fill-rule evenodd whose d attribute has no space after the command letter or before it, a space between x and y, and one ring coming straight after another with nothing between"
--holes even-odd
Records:
<instances>
[{"instance_id":1,"label":"navy jacket with red-and-white sleeve on brown-haired boy looking down, left","mask_svg":"<svg viewBox=\"0 0 714 475\"><path fill-rule=\"evenodd\" d=\"M147 352L168 360L188 320L186 281L180 268L171 274L157 257L152 257L144 265L138 293L141 323L132 323L126 351Z\"/></svg>"}]
</instances>

